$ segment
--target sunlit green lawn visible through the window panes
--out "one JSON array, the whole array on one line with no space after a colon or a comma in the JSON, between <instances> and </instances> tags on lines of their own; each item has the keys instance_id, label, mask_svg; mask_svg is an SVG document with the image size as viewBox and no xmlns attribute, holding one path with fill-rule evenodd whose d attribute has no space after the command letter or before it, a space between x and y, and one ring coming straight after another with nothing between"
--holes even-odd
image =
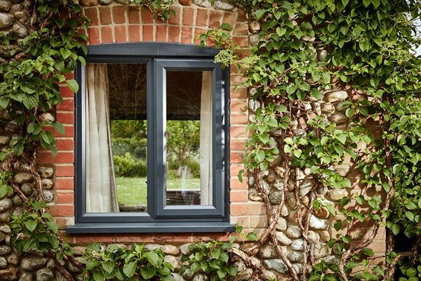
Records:
<instances>
[{"instance_id":1,"label":"sunlit green lawn visible through the window panes","mask_svg":"<svg viewBox=\"0 0 421 281\"><path fill-rule=\"evenodd\" d=\"M146 205L146 178L116 178L117 195L119 204L126 206ZM167 188L179 189L180 179L167 180ZM189 178L186 180L188 189L200 189L200 178Z\"/></svg>"}]
</instances>

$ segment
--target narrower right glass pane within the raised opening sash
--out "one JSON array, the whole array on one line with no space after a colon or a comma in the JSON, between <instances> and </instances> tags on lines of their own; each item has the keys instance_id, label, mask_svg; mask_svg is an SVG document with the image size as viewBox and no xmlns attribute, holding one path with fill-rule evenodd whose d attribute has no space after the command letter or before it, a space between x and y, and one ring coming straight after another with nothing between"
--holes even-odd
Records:
<instances>
[{"instance_id":1,"label":"narrower right glass pane within the raised opening sash","mask_svg":"<svg viewBox=\"0 0 421 281\"><path fill-rule=\"evenodd\" d=\"M166 204L211 205L212 72L166 73L166 120Z\"/></svg>"}]
</instances>

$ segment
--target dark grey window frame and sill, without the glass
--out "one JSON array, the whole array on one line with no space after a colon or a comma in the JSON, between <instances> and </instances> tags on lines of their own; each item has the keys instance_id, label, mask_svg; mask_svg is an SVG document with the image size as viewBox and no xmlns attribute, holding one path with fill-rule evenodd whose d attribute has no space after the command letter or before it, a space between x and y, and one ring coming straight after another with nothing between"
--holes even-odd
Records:
<instances>
[{"instance_id":1,"label":"dark grey window frame and sill, without the glass","mask_svg":"<svg viewBox=\"0 0 421 281\"><path fill-rule=\"evenodd\" d=\"M147 213L86 213L85 67L76 67L75 224L67 233L231 232L229 223L229 67L213 62L215 48L166 43L88 46L86 63L147 65ZM165 206L165 71L213 71L213 206ZM215 94L220 93L220 94ZM161 175L161 176L160 176Z\"/></svg>"}]
</instances>

